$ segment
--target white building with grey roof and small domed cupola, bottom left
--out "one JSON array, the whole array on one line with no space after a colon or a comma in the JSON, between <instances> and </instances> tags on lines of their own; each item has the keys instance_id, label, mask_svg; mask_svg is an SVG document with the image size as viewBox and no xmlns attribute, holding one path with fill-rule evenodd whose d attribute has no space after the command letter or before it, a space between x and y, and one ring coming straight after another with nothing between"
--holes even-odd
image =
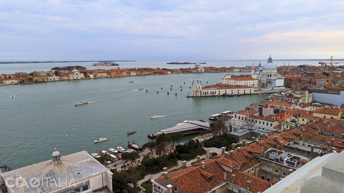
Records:
<instances>
[{"instance_id":1,"label":"white building with grey roof and small domed cupola, bottom left","mask_svg":"<svg viewBox=\"0 0 344 193\"><path fill-rule=\"evenodd\" d=\"M9 193L112 193L112 172L86 151L62 156L55 148L53 159L2 173Z\"/></svg>"}]
</instances>

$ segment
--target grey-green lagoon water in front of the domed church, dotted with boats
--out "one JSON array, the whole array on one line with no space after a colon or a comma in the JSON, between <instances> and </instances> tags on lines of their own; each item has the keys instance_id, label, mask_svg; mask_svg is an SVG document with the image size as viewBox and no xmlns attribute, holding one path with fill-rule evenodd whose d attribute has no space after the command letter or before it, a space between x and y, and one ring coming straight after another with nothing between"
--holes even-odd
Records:
<instances>
[{"instance_id":1,"label":"grey-green lagoon water in front of the domed church, dotted with boats","mask_svg":"<svg viewBox=\"0 0 344 193\"><path fill-rule=\"evenodd\" d=\"M120 143L126 147L127 141L133 139L141 145L148 142L149 133L164 127L185 120L208 121L209 115L241 110L249 103L265 100L267 95L186 98L192 92L193 80L196 83L199 78L202 86L206 86L219 82L225 74L132 76L1 86L0 163L6 162L17 169L49 160L55 142L62 156L83 150L93 153L96 148L108 150ZM141 87L145 89L138 90ZM75 106L82 101L89 103ZM151 119L154 115L161 117ZM137 133L127 136L128 131L135 130ZM184 141L193 136L185 137ZM102 137L107 141L93 143Z\"/></svg>"}]
</instances>

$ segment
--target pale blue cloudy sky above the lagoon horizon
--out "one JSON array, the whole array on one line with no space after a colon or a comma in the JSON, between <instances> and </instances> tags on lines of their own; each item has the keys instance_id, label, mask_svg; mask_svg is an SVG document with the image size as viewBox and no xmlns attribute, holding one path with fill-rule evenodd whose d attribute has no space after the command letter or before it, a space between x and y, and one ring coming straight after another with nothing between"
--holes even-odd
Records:
<instances>
[{"instance_id":1,"label":"pale blue cloudy sky above the lagoon horizon","mask_svg":"<svg viewBox=\"0 0 344 193\"><path fill-rule=\"evenodd\" d=\"M0 61L344 58L344 1L0 0Z\"/></svg>"}]
</instances>

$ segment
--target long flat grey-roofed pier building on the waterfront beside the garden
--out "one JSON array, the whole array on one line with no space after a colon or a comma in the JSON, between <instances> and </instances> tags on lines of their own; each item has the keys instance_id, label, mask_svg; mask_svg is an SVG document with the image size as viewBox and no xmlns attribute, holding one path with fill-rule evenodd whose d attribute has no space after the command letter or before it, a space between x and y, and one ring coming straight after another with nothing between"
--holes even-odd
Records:
<instances>
[{"instance_id":1,"label":"long flat grey-roofed pier building on the waterfront beside the garden","mask_svg":"<svg viewBox=\"0 0 344 193\"><path fill-rule=\"evenodd\" d=\"M191 121L189 123L184 123L178 126L170 127L167 129L162 129L159 132L148 134L148 137L155 138L159 134L162 133L173 133L173 132L180 132L183 135L193 134L193 133L200 133L204 130L212 129L209 126L209 123L203 123L201 121Z\"/></svg>"}]
</instances>

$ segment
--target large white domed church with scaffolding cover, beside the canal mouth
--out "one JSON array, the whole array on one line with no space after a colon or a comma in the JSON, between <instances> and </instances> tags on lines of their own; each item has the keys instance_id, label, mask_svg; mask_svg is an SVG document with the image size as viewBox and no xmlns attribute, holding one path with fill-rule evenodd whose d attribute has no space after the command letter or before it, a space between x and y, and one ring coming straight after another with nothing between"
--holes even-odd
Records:
<instances>
[{"instance_id":1,"label":"large white domed church with scaffolding cover, beside the canal mouth","mask_svg":"<svg viewBox=\"0 0 344 193\"><path fill-rule=\"evenodd\" d=\"M284 88L284 77L277 73L277 66L272 63L271 55L263 67L260 63L257 68L252 65L251 76L258 80L258 88Z\"/></svg>"}]
</instances>

